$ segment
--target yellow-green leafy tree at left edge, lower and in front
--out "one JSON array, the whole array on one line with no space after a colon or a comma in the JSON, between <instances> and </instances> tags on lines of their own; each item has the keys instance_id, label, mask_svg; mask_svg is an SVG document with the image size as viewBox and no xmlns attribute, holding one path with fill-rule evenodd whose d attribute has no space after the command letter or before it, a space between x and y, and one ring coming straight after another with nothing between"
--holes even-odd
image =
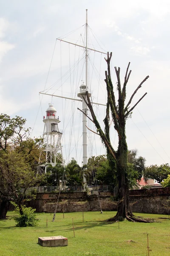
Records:
<instances>
[{"instance_id":1,"label":"yellow-green leafy tree at left edge, lower and in front","mask_svg":"<svg viewBox=\"0 0 170 256\"><path fill-rule=\"evenodd\" d=\"M23 201L34 198L27 194L27 189L37 185L42 178L42 175L36 175L22 154L14 150L0 151L0 218L6 218L9 201L17 204L22 215Z\"/></svg>"}]
</instances>

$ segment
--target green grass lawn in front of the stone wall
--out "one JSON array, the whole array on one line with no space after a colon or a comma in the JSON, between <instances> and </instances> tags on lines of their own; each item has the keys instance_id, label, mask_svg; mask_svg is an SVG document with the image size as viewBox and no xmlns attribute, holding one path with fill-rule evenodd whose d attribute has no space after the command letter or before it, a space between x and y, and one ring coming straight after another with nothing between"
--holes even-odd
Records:
<instances>
[{"instance_id":1,"label":"green grass lawn in front of the stone wall","mask_svg":"<svg viewBox=\"0 0 170 256\"><path fill-rule=\"evenodd\" d=\"M37 227L15 227L11 218L15 212L8 212L8 219L0 221L0 256L146 256L147 233L149 234L150 256L170 255L170 221L158 219L164 215L136 214L145 218L156 218L160 222L118 223L104 222L115 212L82 212L56 214L40 213ZM167 217L167 216L166 216ZM48 227L46 227L48 218ZM72 229L74 218L75 238ZM67 247L42 247L41 236L65 236Z\"/></svg>"}]
</instances>

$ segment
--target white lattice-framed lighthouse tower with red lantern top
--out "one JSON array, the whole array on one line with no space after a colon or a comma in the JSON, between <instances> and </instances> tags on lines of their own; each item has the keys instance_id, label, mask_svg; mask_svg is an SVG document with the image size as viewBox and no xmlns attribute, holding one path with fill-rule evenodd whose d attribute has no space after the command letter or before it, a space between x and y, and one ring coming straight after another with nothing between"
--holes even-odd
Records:
<instances>
[{"instance_id":1,"label":"white lattice-framed lighthouse tower with red lantern top","mask_svg":"<svg viewBox=\"0 0 170 256\"><path fill-rule=\"evenodd\" d=\"M45 143L45 160L46 163L41 165L41 169L44 169L46 172L46 166L50 163L52 166L55 166L56 163L63 163L62 156L62 146L61 146L61 137L62 130L59 129L59 116L57 116L57 111L52 104L49 103L49 107L46 110L46 115L43 117L44 122L44 131L42 138ZM58 154L60 153L60 154Z\"/></svg>"}]
</instances>

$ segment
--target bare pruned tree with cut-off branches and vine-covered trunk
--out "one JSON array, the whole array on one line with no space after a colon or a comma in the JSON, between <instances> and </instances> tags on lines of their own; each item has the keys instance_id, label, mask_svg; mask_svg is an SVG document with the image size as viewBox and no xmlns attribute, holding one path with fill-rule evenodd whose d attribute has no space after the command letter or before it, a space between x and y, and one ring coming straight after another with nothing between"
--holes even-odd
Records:
<instances>
[{"instance_id":1,"label":"bare pruned tree with cut-off branches and vine-covered trunk","mask_svg":"<svg viewBox=\"0 0 170 256\"><path fill-rule=\"evenodd\" d=\"M129 205L129 182L128 182L128 169L127 169L127 142L126 142L126 134L125 134L125 128L126 128L126 120L127 117L130 116L133 109L136 107L136 105L144 98L144 96L147 93L144 93L144 95L136 102L135 105L130 107L130 104L132 102L132 99L136 92L139 90L139 88L142 87L142 84L149 78L149 76L146 76L145 79L139 84L139 86L136 88L136 90L133 92L132 96L130 97L129 101L127 102L127 105L125 106L125 99L126 99L126 86L127 82L130 77L131 70L129 71L130 62L127 66L127 70L125 73L125 81L123 86L121 86L120 82L120 67L115 67L116 77L117 77L117 90L118 90L118 104L116 104L115 99L115 88L113 87L113 83L111 80L111 69L110 69L110 62L111 62L112 52L107 55L107 65L108 65L108 71L105 71L105 83L108 93L108 99L106 104L106 116L104 121L105 124L105 130L102 131L102 128L96 119L93 106L91 103L91 100L89 98L88 91L86 91L86 97L83 97L85 100L89 110L91 111L91 116L93 119L93 122L96 126L97 133L101 137L102 143L104 143L108 159L110 160L110 163L114 168L116 168L116 177L117 177L117 183L118 183L118 212L115 217L111 218L111 221L116 221L118 218L127 218L129 221L140 221L140 222L148 222L146 220L137 218L133 215L130 209ZM113 148L113 145L111 144L110 140L110 116L113 119L114 128L117 131L118 138L119 138L119 145L117 150Z\"/></svg>"}]
</instances>

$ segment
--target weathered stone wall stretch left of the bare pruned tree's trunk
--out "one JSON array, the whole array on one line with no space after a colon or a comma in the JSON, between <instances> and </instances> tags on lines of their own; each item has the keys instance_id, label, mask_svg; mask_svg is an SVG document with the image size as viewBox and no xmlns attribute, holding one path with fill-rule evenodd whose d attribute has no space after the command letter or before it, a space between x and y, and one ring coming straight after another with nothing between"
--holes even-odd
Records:
<instances>
[{"instance_id":1,"label":"weathered stone wall stretch left of the bare pruned tree's trunk","mask_svg":"<svg viewBox=\"0 0 170 256\"><path fill-rule=\"evenodd\" d=\"M100 192L100 204L104 210L113 211L115 206L110 200L112 192ZM38 193L37 198L28 202L37 212L54 212L57 204L58 193ZM96 195L88 196L86 192L61 193L57 212L99 211L99 201Z\"/></svg>"}]
</instances>

